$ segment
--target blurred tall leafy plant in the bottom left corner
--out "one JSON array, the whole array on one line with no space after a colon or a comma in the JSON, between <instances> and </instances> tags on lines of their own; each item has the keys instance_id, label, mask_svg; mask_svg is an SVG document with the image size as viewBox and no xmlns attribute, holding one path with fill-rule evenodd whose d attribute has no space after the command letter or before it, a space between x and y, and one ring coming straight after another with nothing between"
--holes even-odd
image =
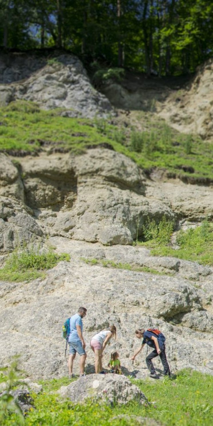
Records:
<instances>
[{"instance_id":1,"label":"blurred tall leafy plant in the bottom left corner","mask_svg":"<svg viewBox=\"0 0 213 426\"><path fill-rule=\"evenodd\" d=\"M6 420L7 416L9 416L10 413L15 412L18 414L19 423L24 423L24 417L22 414L22 411L20 409L20 406L18 405L17 401L14 399L12 394L10 393L12 389L15 386L23 385L26 383L20 382L20 370L18 368L18 360L19 356L16 355L13 357L13 360L10 364L9 371L6 379L6 390L3 392L2 395L0 395L0 423L3 424Z\"/></svg>"}]
</instances>

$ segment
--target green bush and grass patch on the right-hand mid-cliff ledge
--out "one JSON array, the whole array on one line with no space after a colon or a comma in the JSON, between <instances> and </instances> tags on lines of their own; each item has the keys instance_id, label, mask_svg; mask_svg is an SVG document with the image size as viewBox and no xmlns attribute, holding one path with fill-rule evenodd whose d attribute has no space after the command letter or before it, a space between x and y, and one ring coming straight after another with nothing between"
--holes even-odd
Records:
<instances>
[{"instance_id":1,"label":"green bush and grass patch on the right-hand mid-cliff ledge","mask_svg":"<svg viewBox=\"0 0 213 426\"><path fill-rule=\"evenodd\" d=\"M178 259L191 260L201 265L213 265L213 224L207 221L195 229L177 233L176 243L179 248L173 249L170 237L174 223L163 218L158 224L153 220L144 224L138 245L151 248L154 256L173 256Z\"/></svg>"}]
</instances>

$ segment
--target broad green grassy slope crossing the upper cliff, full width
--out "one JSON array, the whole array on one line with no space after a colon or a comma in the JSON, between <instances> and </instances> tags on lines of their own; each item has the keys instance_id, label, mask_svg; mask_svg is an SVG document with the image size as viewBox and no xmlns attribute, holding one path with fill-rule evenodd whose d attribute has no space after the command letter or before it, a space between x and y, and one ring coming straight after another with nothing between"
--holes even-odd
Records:
<instances>
[{"instance_id":1,"label":"broad green grassy slope crossing the upper cliff, full width","mask_svg":"<svg viewBox=\"0 0 213 426\"><path fill-rule=\"evenodd\" d=\"M152 113L138 113L135 123L143 122L146 126L139 131L137 126L126 126L114 118L113 122L67 118L60 116L62 111L40 110L27 101L0 108L0 151L33 153L45 147L49 152L64 150L79 154L86 147L107 143L145 169L159 167L174 176L213 178L213 143L179 133ZM184 172L182 166L193 166L194 173Z\"/></svg>"}]
</instances>

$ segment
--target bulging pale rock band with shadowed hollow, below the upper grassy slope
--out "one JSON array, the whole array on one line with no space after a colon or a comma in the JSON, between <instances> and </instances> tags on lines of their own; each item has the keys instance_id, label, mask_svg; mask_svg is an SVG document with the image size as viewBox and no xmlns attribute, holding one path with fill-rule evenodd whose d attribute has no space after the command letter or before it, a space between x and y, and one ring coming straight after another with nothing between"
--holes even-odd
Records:
<instances>
[{"instance_id":1,"label":"bulging pale rock band with shadowed hollow, below the upper grassy slope","mask_svg":"<svg viewBox=\"0 0 213 426\"><path fill-rule=\"evenodd\" d=\"M184 228L186 222L199 225L213 216L212 187L146 179L130 158L112 150L91 149L78 156L42 153L18 163L0 154L0 160L2 254L32 236L132 244L148 217L159 221L165 215ZM164 268L164 262L158 266ZM169 269L181 270L181 262ZM199 275L190 268L188 277Z\"/></svg>"}]
</instances>

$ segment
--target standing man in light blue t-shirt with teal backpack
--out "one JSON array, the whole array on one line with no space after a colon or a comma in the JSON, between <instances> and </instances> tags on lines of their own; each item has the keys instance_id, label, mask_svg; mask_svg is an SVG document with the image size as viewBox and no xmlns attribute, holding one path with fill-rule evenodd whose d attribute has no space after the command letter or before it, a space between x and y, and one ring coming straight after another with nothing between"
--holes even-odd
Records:
<instances>
[{"instance_id":1,"label":"standing man in light blue t-shirt with teal backpack","mask_svg":"<svg viewBox=\"0 0 213 426\"><path fill-rule=\"evenodd\" d=\"M82 318L86 316L86 308L78 309L78 313L73 315L69 320L70 333L68 337L69 343L69 378L75 377L72 373L73 361L75 360L76 352L81 356L80 358L80 377L84 376L84 366L86 361L85 342L83 339L83 322Z\"/></svg>"}]
</instances>

